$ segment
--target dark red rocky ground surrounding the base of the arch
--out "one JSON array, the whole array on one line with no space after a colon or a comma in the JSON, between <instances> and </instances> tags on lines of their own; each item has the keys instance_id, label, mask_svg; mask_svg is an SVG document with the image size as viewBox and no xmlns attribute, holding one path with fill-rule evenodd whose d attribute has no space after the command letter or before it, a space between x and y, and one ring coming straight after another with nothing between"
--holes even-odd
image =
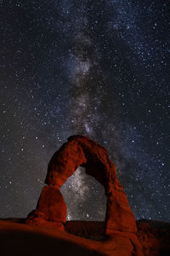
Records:
<instances>
[{"instance_id":1,"label":"dark red rocky ground surrounding the base of the arch","mask_svg":"<svg viewBox=\"0 0 170 256\"><path fill-rule=\"evenodd\" d=\"M170 224L139 220L137 227L144 256L170 255ZM104 222L69 221L63 231L54 225L27 225L23 218L1 219L0 252L3 256L129 255L128 242L119 236L114 242L105 240L104 230Z\"/></svg>"}]
</instances>

